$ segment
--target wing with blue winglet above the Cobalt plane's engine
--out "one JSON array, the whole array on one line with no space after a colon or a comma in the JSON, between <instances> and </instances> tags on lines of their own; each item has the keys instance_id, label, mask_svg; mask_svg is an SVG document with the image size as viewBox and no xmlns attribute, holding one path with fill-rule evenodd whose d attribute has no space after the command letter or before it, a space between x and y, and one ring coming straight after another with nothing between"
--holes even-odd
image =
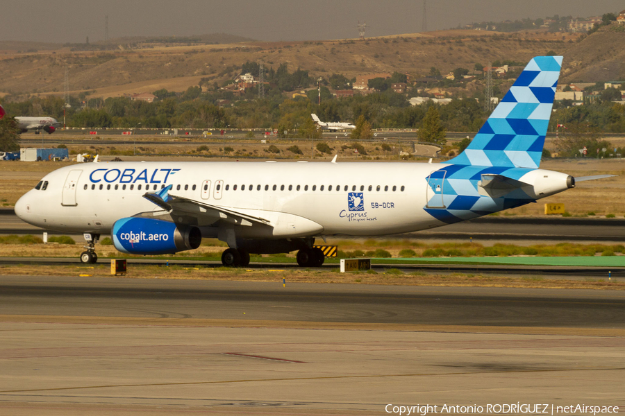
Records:
<instances>
[{"instance_id":1,"label":"wing with blue winglet above the Cobalt plane's engine","mask_svg":"<svg viewBox=\"0 0 625 416\"><path fill-rule=\"evenodd\" d=\"M187 218L184 222L194 223L194 225L212 225L218 221L232 225L271 225L269 220L265 218L244 214L235 209L217 207L197 200L169 195L171 189L172 185L169 185L169 187L156 193L146 193L143 198L163 208L172 216Z\"/></svg>"}]
</instances>

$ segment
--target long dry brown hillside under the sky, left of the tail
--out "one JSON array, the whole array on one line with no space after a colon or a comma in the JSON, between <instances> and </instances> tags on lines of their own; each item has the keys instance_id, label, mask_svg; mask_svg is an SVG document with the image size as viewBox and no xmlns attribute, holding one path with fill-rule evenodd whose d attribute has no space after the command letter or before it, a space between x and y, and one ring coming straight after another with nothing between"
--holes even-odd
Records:
<instances>
[{"instance_id":1,"label":"long dry brown hillside under the sky, left of the tail","mask_svg":"<svg viewBox=\"0 0 625 416\"><path fill-rule=\"evenodd\" d=\"M622 34L606 34L613 35ZM549 51L568 56L592 37L594 35L578 43L576 35L562 33L441 31L365 41L161 45L106 52L0 51L0 95L62 94L66 67L72 94L88 92L105 98L160 88L183 91L198 85L201 78L222 82L234 76L236 68L248 60L263 61L266 67L274 69L287 63L290 71L302 68L312 76L343 73L351 78L362 73L393 71L421 76L431 67L447 73L457 67L473 69L476 62L526 62L534 55ZM567 76L575 73L578 71L571 71Z\"/></svg>"}]
</instances>

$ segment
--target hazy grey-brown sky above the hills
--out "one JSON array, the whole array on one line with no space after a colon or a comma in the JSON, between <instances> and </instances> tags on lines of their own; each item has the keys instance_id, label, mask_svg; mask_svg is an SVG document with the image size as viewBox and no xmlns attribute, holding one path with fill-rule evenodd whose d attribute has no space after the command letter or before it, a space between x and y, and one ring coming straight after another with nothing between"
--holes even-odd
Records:
<instances>
[{"instance_id":1,"label":"hazy grey-brown sky above the hills","mask_svg":"<svg viewBox=\"0 0 625 416\"><path fill-rule=\"evenodd\" d=\"M91 42L110 37L228 33L326 40L420 32L424 0L5 0L0 40ZM624 0L426 0L429 31L479 21L620 12Z\"/></svg>"}]
</instances>

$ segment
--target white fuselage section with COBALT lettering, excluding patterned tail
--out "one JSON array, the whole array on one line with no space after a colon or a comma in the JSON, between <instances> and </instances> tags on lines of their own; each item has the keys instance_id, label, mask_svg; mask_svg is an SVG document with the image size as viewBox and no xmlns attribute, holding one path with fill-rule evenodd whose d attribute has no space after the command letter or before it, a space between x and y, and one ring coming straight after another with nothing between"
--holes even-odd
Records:
<instances>
[{"instance_id":1,"label":"white fuselage section with COBALT lettering, excluding patterned tail","mask_svg":"<svg viewBox=\"0 0 625 416\"><path fill-rule=\"evenodd\" d=\"M46 189L28 191L15 211L26 222L47 229L106 234L120 218L160 210L142 196L172 184L172 196L283 223L274 227L273 238L395 234L444 225L423 210L427 177L443 166L366 162L76 164L46 175L42 179L47 182ZM293 220L295 217L303 219ZM252 229L244 231L246 238L267 238L265 234L249 235Z\"/></svg>"}]
</instances>

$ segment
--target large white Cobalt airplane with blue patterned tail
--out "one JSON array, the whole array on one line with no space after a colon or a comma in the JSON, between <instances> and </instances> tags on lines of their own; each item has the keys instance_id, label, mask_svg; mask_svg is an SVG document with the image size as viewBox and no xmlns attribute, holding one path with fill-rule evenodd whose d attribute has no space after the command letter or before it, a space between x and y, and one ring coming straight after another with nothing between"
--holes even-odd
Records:
<instances>
[{"instance_id":1,"label":"large white Cobalt airplane with blue patterned tail","mask_svg":"<svg viewBox=\"0 0 625 416\"><path fill-rule=\"evenodd\" d=\"M297 252L326 236L416 232L519 207L582 180L539 168L562 57L533 58L469 146L447 162L94 162L45 175L15 204L32 225L85 234L83 263L110 233L128 254L228 244L224 266L249 254Z\"/></svg>"}]
</instances>

